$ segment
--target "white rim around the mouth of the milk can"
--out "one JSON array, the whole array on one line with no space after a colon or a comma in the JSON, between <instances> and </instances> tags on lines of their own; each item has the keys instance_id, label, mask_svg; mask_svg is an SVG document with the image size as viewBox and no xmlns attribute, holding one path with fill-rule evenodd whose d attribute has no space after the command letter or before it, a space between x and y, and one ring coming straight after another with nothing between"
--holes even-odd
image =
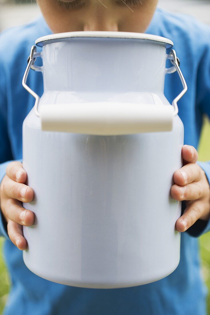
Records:
<instances>
[{"instance_id":1,"label":"white rim around the mouth of the milk can","mask_svg":"<svg viewBox=\"0 0 210 315\"><path fill-rule=\"evenodd\" d=\"M50 34L47 36L39 37L35 41L37 46L43 46L50 43L61 42L64 38L71 37L107 37L107 38L135 38L145 39L165 44L166 48L171 48L173 42L165 37L145 34L145 33L134 33L134 32L117 32L117 31L77 31L77 32L66 32L58 34Z\"/></svg>"}]
</instances>

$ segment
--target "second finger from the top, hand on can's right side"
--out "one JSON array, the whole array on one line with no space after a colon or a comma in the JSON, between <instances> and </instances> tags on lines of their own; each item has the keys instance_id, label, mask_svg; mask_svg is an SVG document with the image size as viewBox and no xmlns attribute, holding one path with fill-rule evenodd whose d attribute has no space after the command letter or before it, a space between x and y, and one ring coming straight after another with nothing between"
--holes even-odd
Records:
<instances>
[{"instance_id":1,"label":"second finger from the top, hand on can's right side","mask_svg":"<svg viewBox=\"0 0 210 315\"><path fill-rule=\"evenodd\" d=\"M189 163L178 169L173 174L174 184L184 186L201 179L201 167L196 163Z\"/></svg>"}]
</instances>

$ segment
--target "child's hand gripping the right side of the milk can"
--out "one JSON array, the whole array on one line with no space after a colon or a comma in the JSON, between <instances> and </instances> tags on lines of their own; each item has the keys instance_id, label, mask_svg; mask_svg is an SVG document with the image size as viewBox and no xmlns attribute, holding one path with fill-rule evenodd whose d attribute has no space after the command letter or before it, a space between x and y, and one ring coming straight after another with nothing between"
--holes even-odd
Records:
<instances>
[{"instance_id":1,"label":"child's hand gripping the right side of the milk can","mask_svg":"<svg viewBox=\"0 0 210 315\"><path fill-rule=\"evenodd\" d=\"M186 231L198 219L210 217L210 186L203 169L196 163L198 152L193 146L182 147L184 166L173 175L171 196L176 200L188 200L183 215L176 221L176 230Z\"/></svg>"}]
</instances>

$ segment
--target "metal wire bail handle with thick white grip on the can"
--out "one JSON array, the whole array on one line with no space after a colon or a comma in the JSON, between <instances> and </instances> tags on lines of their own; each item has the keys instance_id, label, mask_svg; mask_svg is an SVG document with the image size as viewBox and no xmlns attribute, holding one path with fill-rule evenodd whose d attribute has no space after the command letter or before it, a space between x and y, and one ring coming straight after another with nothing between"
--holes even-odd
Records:
<instances>
[{"instance_id":1,"label":"metal wire bail handle with thick white grip on the can","mask_svg":"<svg viewBox=\"0 0 210 315\"><path fill-rule=\"evenodd\" d=\"M167 55L167 59L172 61L184 88L173 100L173 106L115 102L89 102L59 105L44 104L41 106L39 112L38 104L40 98L26 84L29 70L36 56L40 56L40 53L36 53L36 47L32 46L22 84L36 100L34 112L41 118L42 130L91 135L123 135L171 131L173 127L173 117L178 113L177 102L187 91L187 85L179 68L176 53L172 50L170 54ZM36 66L34 66L34 70L36 70Z\"/></svg>"}]
</instances>

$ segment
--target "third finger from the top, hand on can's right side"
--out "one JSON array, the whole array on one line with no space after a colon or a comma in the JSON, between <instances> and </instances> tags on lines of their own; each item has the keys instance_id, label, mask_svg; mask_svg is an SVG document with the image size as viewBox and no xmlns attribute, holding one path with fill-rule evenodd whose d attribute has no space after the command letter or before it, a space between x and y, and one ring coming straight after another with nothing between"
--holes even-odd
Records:
<instances>
[{"instance_id":1,"label":"third finger from the top, hand on can's right side","mask_svg":"<svg viewBox=\"0 0 210 315\"><path fill-rule=\"evenodd\" d=\"M186 186L173 185L171 187L171 197L176 200L196 200L205 194L200 182L194 182Z\"/></svg>"}]
</instances>

